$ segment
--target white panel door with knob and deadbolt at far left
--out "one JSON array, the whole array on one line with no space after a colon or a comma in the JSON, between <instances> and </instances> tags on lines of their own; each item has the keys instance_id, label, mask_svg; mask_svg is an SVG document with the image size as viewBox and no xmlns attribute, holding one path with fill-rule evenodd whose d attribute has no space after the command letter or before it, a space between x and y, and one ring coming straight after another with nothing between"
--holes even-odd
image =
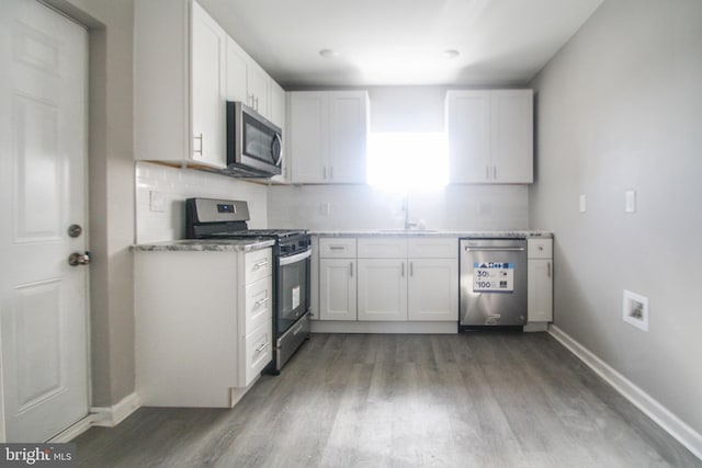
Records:
<instances>
[{"instance_id":1,"label":"white panel door with knob and deadbolt at far left","mask_svg":"<svg viewBox=\"0 0 702 468\"><path fill-rule=\"evenodd\" d=\"M9 442L45 441L88 413L88 35L35 1L0 19L0 328Z\"/></svg>"}]
</instances>

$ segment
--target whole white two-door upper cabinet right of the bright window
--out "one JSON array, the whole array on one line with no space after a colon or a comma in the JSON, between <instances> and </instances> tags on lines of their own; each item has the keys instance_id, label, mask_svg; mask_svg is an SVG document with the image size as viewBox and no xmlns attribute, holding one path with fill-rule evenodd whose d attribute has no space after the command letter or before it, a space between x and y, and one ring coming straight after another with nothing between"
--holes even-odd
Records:
<instances>
[{"instance_id":1,"label":"whole white two-door upper cabinet right of the bright window","mask_svg":"<svg viewBox=\"0 0 702 468\"><path fill-rule=\"evenodd\" d=\"M533 182L532 90L446 93L452 183Z\"/></svg>"}]
</instances>

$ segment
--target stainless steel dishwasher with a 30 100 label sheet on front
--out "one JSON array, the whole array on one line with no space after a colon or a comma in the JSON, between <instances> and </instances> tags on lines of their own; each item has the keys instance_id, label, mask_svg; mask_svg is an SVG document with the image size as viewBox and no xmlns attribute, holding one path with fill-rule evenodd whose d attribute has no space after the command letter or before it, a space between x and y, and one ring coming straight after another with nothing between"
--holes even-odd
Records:
<instances>
[{"instance_id":1,"label":"stainless steel dishwasher with a 30 100 label sheet on front","mask_svg":"<svg viewBox=\"0 0 702 468\"><path fill-rule=\"evenodd\" d=\"M526 240L461 239L461 331L526 323Z\"/></svg>"}]
</instances>

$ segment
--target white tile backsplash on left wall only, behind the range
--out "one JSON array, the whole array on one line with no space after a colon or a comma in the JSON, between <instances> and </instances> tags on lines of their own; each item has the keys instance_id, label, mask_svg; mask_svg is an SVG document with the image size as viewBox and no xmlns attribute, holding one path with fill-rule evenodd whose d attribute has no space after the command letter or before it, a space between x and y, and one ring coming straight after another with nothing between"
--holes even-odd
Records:
<instances>
[{"instance_id":1,"label":"white tile backsplash on left wall only, behind the range","mask_svg":"<svg viewBox=\"0 0 702 468\"><path fill-rule=\"evenodd\" d=\"M265 228L268 187L193 169L149 162L136 163L136 242L185 237L185 198L244 199L249 203L250 228Z\"/></svg>"}]
</instances>

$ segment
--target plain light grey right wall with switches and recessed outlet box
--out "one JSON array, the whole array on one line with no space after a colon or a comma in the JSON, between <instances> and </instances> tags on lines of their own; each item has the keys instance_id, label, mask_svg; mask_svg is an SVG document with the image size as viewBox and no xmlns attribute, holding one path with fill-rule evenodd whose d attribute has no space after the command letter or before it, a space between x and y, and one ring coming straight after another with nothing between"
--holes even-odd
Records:
<instances>
[{"instance_id":1,"label":"plain light grey right wall with switches and recessed outlet box","mask_svg":"<svg viewBox=\"0 0 702 468\"><path fill-rule=\"evenodd\" d=\"M701 84L702 2L605 0L533 82L530 189L531 225L555 231L556 324L698 434ZM649 298L647 333L622 320L625 288Z\"/></svg>"}]
</instances>

